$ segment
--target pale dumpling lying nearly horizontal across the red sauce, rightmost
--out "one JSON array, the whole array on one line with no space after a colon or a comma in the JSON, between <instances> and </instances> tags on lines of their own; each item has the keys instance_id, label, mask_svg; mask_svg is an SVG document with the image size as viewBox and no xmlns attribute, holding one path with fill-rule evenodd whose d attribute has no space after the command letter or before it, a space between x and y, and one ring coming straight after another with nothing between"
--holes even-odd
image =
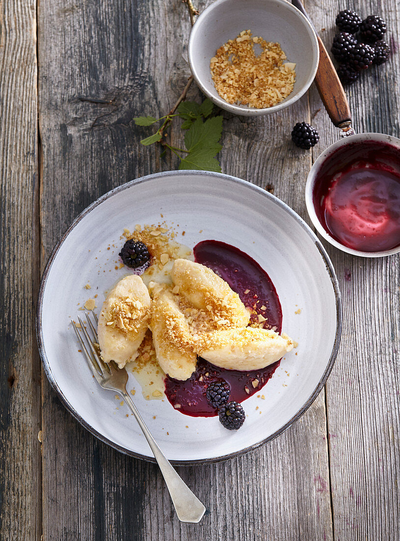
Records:
<instances>
[{"instance_id":1,"label":"pale dumpling lying nearly horizontal across the red sauce, rightmost","mask_svg":"<svg viewBox=\"0 0 400 541\"><path fill-rule=\"evenodd\" d=\"M267 329L245 327L215 331L199 349L201 357L228 370L259 370L293 349L293 341Z\"/></svg>"}]
</instances>

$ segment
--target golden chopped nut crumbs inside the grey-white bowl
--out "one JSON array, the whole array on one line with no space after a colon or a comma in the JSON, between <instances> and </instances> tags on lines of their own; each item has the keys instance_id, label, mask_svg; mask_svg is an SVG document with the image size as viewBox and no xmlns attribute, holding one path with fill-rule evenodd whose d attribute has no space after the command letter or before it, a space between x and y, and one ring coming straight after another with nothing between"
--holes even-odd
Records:
<instances>
[{"instance_id":1,"label":"golden chopped nut crumbs inside the grey-white bowl","mask_svg":"<svg viewBox=\"0 0 400 541\"><path fill-rule=\"evenodd\" d=\"M254 50L255 44L261 47L260 54ZM215 89L228 103L272 107L293 90L296 64L284 60L286 54L279 43L252 37L250 30L243 30L211 58Z\"/></svg>"}]
</instances>

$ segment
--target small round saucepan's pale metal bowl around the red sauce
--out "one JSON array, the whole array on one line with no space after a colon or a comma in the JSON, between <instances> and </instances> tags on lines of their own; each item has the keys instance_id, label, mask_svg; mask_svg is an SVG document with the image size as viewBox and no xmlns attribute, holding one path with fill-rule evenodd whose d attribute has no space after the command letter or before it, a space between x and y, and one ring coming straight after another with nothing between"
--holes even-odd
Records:
<instances>
[{"instance_id":1,"label":"small round saucepan's pale metal bowl around the red sauce","mask_svg":"<svg viewBox=\"0 0 400 541\"><path fill-rule=\"evenodd\" d=\"M400 245L396 246L395 248L391 248L390 250L384 250L382 252L362 252L361 250L355 250L353 248L344 246L341 242L334 239L324 228L324 226L320 222L320 219L317 216L314 202L314 187L316 181L318 180L318 174L320 173L321 168L323 166L326 166L327 163L329 164L329 161L331 161L332 163L342 164L343 151L346 150L350 144L356 143L360 145L366 142L375 143L376 149L379 149L380 147L384 147L385 145L389 144L391 147L394 147L398 150L398 154L400 156L400 139L398 139L397 137L392 137L391 135L364 133L351 135L350 137L345 137L339 141L336 141L336 143L331 144L320 156L318 156L318 159L314 162L313 167L311 167L306 182L306 206L311 222L313 222L313 225L318 231L318 233L320 233L320 235L325 240L330 242L331 245L335 246L335 248L338 248L342 250L342 252L346 252L351 255L358 255L362 258L382 258L387 255L397 254L398 252L400 252ZM342 154L342 156L340 156L340 154ZM339 167L340 166L337 166L336 169L338 169Z\"/></svg>"}]
</instances>

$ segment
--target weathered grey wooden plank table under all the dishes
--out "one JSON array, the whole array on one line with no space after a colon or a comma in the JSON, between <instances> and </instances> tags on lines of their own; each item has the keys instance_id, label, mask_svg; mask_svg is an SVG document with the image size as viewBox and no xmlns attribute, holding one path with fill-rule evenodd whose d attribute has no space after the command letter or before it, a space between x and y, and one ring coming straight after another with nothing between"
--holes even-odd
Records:
<instances>
[{"instance_id":1,"label":"weathered grey wooden plank table under all the dishes","mask_svg":"<svg viewBox=\"0 0 400 541\"><path fill-rule=\"evenodd\" d=\"M356 130L398 137L400 5L308 0L328 48L347 7L385 18L394 49L348 89ZM173 156L162 161L159 149L140 146L132 117L166 114L180 95L190 23L180 0L4 0L0 16L1 539L400 539L398 255L359 259L327 246L344 328L326 388L271 443L225 463L179 467L207 506L199 525L179 523L157 466L100 443L60 404L37 352L40 272L94 199L177 168ZM189 97L200 98L194 84ZM224 118L223 172L272 185L307 219L307 173L337 139L314 85L281 114ZM312 151L290 142L297 121L319 130Z\"/></svg>"}]
</instances>

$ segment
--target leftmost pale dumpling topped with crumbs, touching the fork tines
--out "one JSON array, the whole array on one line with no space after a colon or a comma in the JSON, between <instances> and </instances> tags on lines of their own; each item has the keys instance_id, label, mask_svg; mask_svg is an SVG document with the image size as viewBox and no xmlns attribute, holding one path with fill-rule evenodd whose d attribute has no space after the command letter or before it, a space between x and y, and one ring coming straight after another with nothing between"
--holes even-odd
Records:
<instances>
[{"instance_id":1,"label":"leftmost pale dumpling topped with crumbs, touching the fork tines","mask_svg":"<svg viewBox=\"0 0 400 541\"><path fill-rule=\"evenodd\" d=\"M101 308L97 334L101 358L116 361L120 368L138 356L148 328L151 299L140 276L120 280Z\"/></svg>"}]
</instances>

